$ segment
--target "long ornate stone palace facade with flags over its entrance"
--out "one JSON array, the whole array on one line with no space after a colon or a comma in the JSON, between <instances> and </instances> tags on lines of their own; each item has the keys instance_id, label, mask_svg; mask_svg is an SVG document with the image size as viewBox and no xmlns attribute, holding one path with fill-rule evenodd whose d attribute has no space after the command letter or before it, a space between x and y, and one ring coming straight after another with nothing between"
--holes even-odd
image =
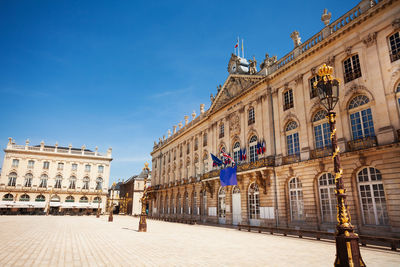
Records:
<instances>
[{"instance_id":1,"label":"long ornate stone palace facade with flags over its entrance","mask_svg":"<svg viewBox=\"0 0 400 267\"><path fill-rule=\"evenodd\" d=\"M334 231L330 132L312 87L326 63L341 81L335 112L352 223L400 236L400 1L361 1L330 17L325 10L304 43L293 32L294 49L267 54L260 70L232 55L210 108L154 144L151 216ZM220 186L210 153L221 148L238 163L237 186Z\"/></svg>"}]
</instances>

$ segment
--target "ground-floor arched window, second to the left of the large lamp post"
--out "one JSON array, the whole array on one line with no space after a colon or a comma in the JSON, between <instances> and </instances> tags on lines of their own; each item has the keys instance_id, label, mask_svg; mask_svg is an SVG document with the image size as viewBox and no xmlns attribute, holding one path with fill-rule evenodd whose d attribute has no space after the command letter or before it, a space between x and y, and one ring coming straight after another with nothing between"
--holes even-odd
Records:
<instances>
[{"instance_id":1,"label":"ground-floor arched window, second to the left of the large lamp post","mask_svg":"<svg viewBox=\"0 0 400 267\"><path fill-rule=\"evenodd\" d=\"M290 216L292 221L304 218L303 189L299 178L289 181Z\"/></svg>"}]
</instances>

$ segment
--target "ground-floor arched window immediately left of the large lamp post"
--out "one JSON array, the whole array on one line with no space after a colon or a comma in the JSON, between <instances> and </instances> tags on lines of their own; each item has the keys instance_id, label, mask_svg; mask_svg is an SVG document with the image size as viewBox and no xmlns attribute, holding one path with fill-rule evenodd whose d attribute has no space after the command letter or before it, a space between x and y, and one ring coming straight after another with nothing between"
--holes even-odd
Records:
<instances>
[{"instance_id":1,"label":"ground-floor arched window immediately left of the large lamp post","mask_svg":"<svg viewBox=\"0 0 400 267\"><path fill-rule=\"evenodd\" d=\"M336 221L335 177L331 173L324 173L318 179L319 198L321 202L322 222Z\"/></svg>"}]
</instances>

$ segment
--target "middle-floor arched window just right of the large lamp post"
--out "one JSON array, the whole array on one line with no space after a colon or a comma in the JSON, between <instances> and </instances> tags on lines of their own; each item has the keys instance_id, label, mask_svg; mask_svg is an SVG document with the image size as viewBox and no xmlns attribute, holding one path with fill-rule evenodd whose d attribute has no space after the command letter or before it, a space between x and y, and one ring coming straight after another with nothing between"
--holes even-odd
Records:
<instances>
[{"instance_id":1,"label":"middle-floor arched window just right of the large lamp post","mask_svg":"<svg viewBox=\"0 0 400 267\"><path fill-rule=\"evenodd\" d=\"M374 122L368 103L369 98L365 95L358 95L350 101L349 113L353 140L375 136Z\"/></svg>"}]
</instances>

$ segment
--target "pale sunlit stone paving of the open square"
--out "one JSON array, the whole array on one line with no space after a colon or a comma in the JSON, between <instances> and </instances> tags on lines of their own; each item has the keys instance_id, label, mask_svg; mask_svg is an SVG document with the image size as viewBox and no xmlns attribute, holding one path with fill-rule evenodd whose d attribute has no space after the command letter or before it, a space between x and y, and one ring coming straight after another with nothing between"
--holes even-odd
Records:
<instances>
[{"instance_id":1,"label":"pale sunlit stone paving of the open square","mask_svg":"<svg viewBox=\"0 0 400 267\"><path fill-rule=\"evenodd\" d=\"M0 266L332 266L332 242L115 216L0 216ZM362 248L368 266L400 253Z\"/></svg>"}]
</instances>

